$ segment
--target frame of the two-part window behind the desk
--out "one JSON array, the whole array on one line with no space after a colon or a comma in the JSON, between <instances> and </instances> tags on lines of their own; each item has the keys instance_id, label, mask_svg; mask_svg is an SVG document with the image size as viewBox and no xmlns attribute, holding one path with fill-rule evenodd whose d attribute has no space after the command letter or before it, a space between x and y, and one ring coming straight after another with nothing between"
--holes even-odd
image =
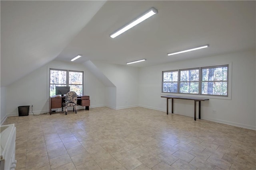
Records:
<instances>
[{"instance_id":1,"label":"frame of the two-part window behind the desk","mask_svg":"<svg viewBox=\"0 0 256 170\"><path fill-rule=\"evenodd\" d=\"M56 70L56 71L65 71L66 72L66 84L56 84L56 83L51 83L51 70ZM81 72L82 73L82 84L70 84L69 81L69 72ZM82 95L84 94L84 71L78 71L78 70L68 70L68 69L59 69L59 68L50 68L49 69L49 96L50 96L50 86L51 85L64 85L64 86L70 86L70 85L82 85Z\"/></svg>"}]
</instances>

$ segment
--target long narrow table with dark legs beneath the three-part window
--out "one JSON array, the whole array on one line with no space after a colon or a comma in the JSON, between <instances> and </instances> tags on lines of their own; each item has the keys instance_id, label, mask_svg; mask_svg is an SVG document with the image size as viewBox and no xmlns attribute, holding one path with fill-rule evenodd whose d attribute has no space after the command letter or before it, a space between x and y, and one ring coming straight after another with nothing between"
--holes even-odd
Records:
<instances>
[{"instance_id":1,"label":"long narrow table with dark legs beneath the three-part window","mask_svg":"<svg viewBox=\"0 0 256 170\"><path fill-rule=\"evenodd\" d=\"M184 99L184 100L194 100L194 120L196 121L196 102L199 102L199 111L198 111L198 118L201 119L201 101L209 100L206 98L192 98L192 97L184 97L184 96L161 96L161 98L167 99L167 108L166 112L168 114L168 100L172 99L172 113L173 113L173 99Z\"/></svg>"}]
</instances>

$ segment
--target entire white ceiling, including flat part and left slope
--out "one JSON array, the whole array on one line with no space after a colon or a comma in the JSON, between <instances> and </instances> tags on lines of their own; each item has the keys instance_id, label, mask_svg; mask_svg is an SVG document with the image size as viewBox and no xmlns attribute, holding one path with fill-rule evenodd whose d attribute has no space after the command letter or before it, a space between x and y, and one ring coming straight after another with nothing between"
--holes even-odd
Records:
<instances>
[{"instance_id":1,"label":"entire white ceiling, including flat part and left slope","mask_svg":"<svg viewBox=\"0 0 256 170\"><path fill-rule=\"evenodd\" d=\"M151 7L158 14L109 37ZM1 86L78 54L74 62L147 59L129 65L144 67L255 49L255 9L255 1L1 1Z\"/></svg>"}]
</instances>

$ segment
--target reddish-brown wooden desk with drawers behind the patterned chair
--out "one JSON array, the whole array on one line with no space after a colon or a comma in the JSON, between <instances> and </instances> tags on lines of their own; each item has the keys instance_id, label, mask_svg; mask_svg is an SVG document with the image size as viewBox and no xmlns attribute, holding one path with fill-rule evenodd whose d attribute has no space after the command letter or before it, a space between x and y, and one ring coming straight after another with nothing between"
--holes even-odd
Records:
<instances>
[{"instance_id":1,"label":"reddish-brown wooden desk with drawers behind the patterned chair","mask_svg":"<svg viewBox=\"0 0 256 170\"><path fill-rule=\"evenodd\" d=\"M52 114L52 109L62 108L62 103L65 102L65 96L50 97L49 99L49 113ZM90 96L77 96L77 105L84 106L84 109L90 108Z\"/></svg>"}]
</instances>

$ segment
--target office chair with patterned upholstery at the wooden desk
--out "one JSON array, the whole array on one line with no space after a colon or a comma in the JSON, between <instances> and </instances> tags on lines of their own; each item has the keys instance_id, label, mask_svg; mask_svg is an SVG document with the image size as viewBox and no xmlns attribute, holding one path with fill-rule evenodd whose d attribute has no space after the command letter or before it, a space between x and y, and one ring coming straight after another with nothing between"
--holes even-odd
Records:
<instances>
[{"instance_id":1,"label":"office chair with patterned upholstery at the wooden desk","mask_svg":"<svg viewBox=\"0 0 256 170\"><path fill-rule=\"evenodd\" d=\"M66 94L65 103L62 103L62 113L63 113L63 107L65 107L65 113L68 114L68 106L73 106L73 111L76 111L76 105L77 105L77 94L76 92L68 92ZM77 112L76 112L77 113Z\"/></svg>"}]
</instances>

